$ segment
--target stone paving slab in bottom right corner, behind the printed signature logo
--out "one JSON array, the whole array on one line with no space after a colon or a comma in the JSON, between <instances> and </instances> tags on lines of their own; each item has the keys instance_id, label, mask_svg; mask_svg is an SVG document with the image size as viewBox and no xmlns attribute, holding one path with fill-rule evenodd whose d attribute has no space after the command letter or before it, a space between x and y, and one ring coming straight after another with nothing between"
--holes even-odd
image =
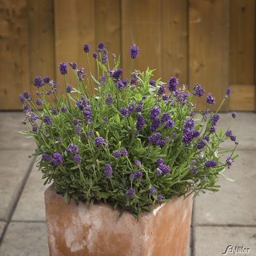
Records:
<instances>
[{"instance_id":1,"label":"stone paving slab in bottom right corner, behind the printed signature logo","mask_svg":"<svg viewBox=\"0 0 256 256\"><path fill-rule=\"evenodd\" d=\"M194 235L195 256L222 256L229 245L250 248L236 255L256 255L256 227L195 227Z\"/></svg>"}]
</instances>

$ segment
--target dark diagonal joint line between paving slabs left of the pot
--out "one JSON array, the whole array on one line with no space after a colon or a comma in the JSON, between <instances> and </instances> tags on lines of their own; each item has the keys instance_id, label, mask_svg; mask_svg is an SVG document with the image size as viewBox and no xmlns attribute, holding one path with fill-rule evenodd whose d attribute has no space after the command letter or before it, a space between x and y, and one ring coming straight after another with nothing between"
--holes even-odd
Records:
<instances>
[{"instance_id":1,"label":"dark diagonal joint line between paving slabs left of the pot","mask_svg":"<svg viewBox=\"0 0 256 256\"><path fill-rule=\"evenodd\" d=\"M8 226L9 226L11 220L12 220L13 213L14 213L16 207L17 207L17 204L19 203L20 196L22 195L22 192L23 192L23 190L24 190L24 188L25 188L25 186L26 186L26 183L27 183L29 174L31 173L31 170L32 170L32 168L33 168L33 165L34 165L35 161L36 161L36 157L33 157L31 163L30 163L29 166L28 166L28 170L27 170L27 172L26 172L26 175L25 175L24 178L22 179L22 182L21 182L21 184L20 184L19 191L17 192L17 196L16 196L15 200L13 200L13 204L12 204L12 206L11 206L11 208L10 208L10 213L9 213L8 216L7 216L7 220L5 220L6 225L5 225L4 229L3 229L2 236L0 237L0 246L1 246L1 243L2 243L2 241L3 241L4 235L5 235L5 233L6 233L6 230L7 230Z\"/></svg>"}]
</instances>

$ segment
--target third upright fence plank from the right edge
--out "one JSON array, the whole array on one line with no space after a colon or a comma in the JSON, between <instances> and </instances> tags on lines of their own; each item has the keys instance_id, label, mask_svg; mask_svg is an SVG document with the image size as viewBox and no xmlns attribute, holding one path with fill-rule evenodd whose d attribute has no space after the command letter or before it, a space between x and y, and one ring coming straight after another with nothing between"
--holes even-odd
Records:
<instances>
[{"instance_id":1,"label":"third upright fence plank from the right edge","mask_svg":"<svg viewBox=\"0 0 256 256\"><path fill-rule=\"evenodd\" d=\"M188 83L188 1L162 1L162 79Z\"/></svg>"}]
</instances>

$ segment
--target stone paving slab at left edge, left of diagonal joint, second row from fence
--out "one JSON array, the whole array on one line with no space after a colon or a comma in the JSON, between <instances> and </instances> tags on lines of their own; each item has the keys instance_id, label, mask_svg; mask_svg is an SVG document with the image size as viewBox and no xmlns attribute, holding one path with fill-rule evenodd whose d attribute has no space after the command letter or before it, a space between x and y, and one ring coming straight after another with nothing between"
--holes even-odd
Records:
<instances>
[{"instance_id":1,"label":"stone paving slab at left edge, left of diagonal joint, second row from fence","mask_svg":"<svg viewBox=\"0 0 256 256\"><path fill-rule=\"evenodd\" d=\"M0 220L7 220L33 159L30 150L0 150Z\"/></svg>"}]
</instances>

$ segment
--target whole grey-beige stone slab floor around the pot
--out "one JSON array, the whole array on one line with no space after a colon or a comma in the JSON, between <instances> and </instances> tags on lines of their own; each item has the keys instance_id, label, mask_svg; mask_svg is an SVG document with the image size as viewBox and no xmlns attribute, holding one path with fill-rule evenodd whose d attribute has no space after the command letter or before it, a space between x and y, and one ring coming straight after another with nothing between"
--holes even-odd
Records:
<instances>
[{"instance_id":1,"label":"whole grey-beige stone slab floor around the pot","mask_svg":"<svg viewBox=\"0 0 256 256\"><path fill-rule=\"evenodd\" d=\"M24 129L22 116L0 113L0 255L45 256L44 186L36 160L28 158L33 141L17 133ZM230 113L221 114L221 126L229 122ZM228 245L256 255L256 114L237 113L233 130L240 156L226 174L236 182L220 179L220 192L196 198L188 256L222 255Z\"/></svg>"}]
</instances>

